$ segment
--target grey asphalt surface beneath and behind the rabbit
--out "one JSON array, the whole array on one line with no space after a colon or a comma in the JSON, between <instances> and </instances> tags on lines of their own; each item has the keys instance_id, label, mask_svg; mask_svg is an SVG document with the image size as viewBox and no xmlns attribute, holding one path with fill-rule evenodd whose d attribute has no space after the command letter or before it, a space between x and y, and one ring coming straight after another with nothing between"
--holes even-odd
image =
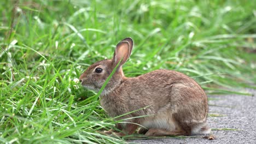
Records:
<instances>
[{"instance_id":1,"label":"grey asphalt surface beneath and behind the rabbit","mask_svg":"<svg viewBox=\"0 0 256 144\"><path fill-rule=\"evenodd\" d=\"M211 128L229 130L212 130L214 140L196 138L160 138L152 140L132 140L127 142L153 143L256 143L256 89L244 89L254 96L245 95L211 95L209 113L219 117L208 117ZM239 130L230 130L239 129Z\"/></svg>"}]
</instances>

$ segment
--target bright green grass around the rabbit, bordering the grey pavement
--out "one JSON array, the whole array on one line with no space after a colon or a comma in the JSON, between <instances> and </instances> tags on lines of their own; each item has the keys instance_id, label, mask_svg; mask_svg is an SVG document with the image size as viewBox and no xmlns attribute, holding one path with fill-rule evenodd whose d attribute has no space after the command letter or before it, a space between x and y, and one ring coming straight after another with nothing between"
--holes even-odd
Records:
<instances>
[{"instance_id":1,"label":"bright green grass around the rabbit, bordering the grey pavement","mask_svg":"<svg viewBox=\"0 0 256 144\"><path fill-rule=\"evenodd\" d=\"M172 69L208 94L256 88L255 1L0 2L0 143L124 143L74 81L132 37L125 75ZM222 88L231 89L223 90Z\"/></svg>"}]
</instances>

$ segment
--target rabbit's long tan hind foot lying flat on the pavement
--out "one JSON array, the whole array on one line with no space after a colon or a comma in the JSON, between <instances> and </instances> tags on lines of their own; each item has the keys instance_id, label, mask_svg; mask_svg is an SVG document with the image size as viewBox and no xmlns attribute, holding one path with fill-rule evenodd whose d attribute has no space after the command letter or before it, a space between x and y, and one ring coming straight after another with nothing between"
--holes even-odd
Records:
<instances>
[{"instance_id":1,"label":"rabbit's long tan hind foot lying flat on the pavement","mask_svg":"<svg viewBox=\"0 0 256 144\"><path fill-rule=\"evenodd\" d=\"M178 136L178 135L187 135L185 131L168 131L165 129L149 129L146 136Z\"/></svg>"}]
</instances>

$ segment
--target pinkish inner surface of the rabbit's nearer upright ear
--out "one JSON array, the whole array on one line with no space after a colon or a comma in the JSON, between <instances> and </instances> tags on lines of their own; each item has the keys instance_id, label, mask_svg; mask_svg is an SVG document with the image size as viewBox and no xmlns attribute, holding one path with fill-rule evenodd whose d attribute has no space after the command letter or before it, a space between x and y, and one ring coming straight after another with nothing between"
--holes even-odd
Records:
<instances>
[{"instance_id":1,"label":"pinkish inner surface of the rabbit's nearer upright ear","mask_svg":"<svg viewBox=\"0 0 256 144\"><path fill-rule=\"evenodd\" d=\"M127 41L122 41L115 48L115 63L117 64L122 58L120 65L124 64L129 58L129 43Z\"/></svg>"}]
</instances>

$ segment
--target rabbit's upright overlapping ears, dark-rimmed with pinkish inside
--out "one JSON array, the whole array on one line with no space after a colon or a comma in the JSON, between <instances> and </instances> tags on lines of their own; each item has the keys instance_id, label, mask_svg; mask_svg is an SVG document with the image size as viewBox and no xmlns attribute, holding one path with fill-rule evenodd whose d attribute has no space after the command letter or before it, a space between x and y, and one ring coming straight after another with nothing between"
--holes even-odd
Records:
<instances>
[{"instance_id":1,"label":"rabbit's upright overlapping ears, dark-rimmed with pinkish inside","mask_svg":"<svg viewBox=\"0 0 256 144\"><path fill-rule=\"evenodd\" d=\"M132 49L132 46L130 44L133 44L132 39L126 38L126 39L120 41L117 44L117 47L115 47L113 64L117 65L119 63L119 61L121 61L118 68L120 68L121 65L123 65L127 61L127 59L130 57L131 49Z\"/></svg>"}]
</instances>

